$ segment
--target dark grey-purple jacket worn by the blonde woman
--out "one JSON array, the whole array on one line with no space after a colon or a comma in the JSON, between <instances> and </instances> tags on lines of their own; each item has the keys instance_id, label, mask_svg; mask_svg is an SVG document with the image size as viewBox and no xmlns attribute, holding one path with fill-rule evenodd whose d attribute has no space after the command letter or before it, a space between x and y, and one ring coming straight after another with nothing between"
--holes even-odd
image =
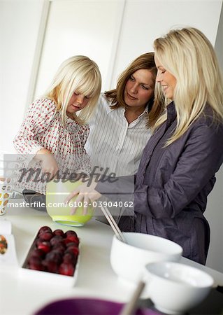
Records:
<instances>
[{"instance_id":1,"label":"dark grey-purple jacket worn by the blonde woman","mask_svg":"<svg viewBox=\"0 0 223 315\"><path fill-rule=\"evenodd\" d=\"M223 162L223 123L213 123L213 111L206 106L185 134L164 147L176 123L172 102L166 122L145 146L135 176L134 224L122 216L119 225L171 239L182 246L183 256L205 264L210 228L203 212ZM120 192L122 187L116 183L115 189Z\"/></svg>"}]
</instances>

